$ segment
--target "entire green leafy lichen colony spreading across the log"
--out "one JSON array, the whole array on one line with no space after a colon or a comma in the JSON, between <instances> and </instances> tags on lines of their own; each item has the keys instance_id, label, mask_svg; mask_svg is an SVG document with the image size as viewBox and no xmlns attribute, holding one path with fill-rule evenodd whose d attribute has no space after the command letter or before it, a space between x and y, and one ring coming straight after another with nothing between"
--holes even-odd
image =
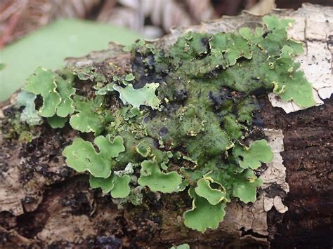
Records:
<instances>
[{"instance_id":1,"label":"entire green leafy lichen colony spreading across the log","mask_svg":"<svg viewBox=\"0 0 333 249\"><path fill-rule=\"evenodd\" d=\"M104 75L95 65L39 68L20 95L21 120L39 125L46 117L52 128L93 134L93 143L77 137L65 147L67 166L88 171L91 187L119 205L141 205L142 189L188 191L185 225L216 229L233 198L256 201L262 181L254 170L273 160L266 140L253 141L256 97L274 92L314 105L293 59L302 44L287 38L292 20L263 22L255 31L188 32L169 48L138 41L124 49L129 74Z\"/></svg>"}]
</instances>

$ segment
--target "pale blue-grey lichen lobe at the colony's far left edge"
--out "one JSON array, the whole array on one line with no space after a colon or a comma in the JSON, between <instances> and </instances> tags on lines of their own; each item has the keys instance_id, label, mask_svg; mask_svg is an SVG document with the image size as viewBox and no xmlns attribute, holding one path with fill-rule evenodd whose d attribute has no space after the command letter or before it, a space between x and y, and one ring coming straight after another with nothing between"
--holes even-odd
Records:
<instances>
[{"instance_id":1,"label":"pale blue-grey lichen lobe at the colony's far left edge","mask_svg":"<svg viewBox=\"0 0 333 249\"><path fill-rule=\"evenodd\" d=\"M25 107L25 109L23 109L20 114L20 121L26 122L30 126L38 126L42 123L42 119L38 115L34 105L34 100L36 100L36 97L37 96L33 93L28 93L26 90L22 90L18 94L18 98L16 100L19 107Z\"/></svg>"}]
</instances>

